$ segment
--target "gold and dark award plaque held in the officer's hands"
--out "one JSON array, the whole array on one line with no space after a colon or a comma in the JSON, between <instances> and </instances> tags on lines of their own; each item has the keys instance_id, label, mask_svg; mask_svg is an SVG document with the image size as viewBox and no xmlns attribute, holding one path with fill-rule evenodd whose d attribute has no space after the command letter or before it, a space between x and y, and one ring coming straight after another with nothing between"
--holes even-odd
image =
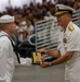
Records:
<instances>
[{"instance_id":1,"label":"gold and dark award plaque held in the officer's hands","mask_svg":"<svg viewBox=\"0 0 80 82\"><path fill-rule=\"evenodd\" d=\"M32 63L34 65L39 65L41 63L41 54L40 52L32 52Z\"/></svg>"}]
</instances>

